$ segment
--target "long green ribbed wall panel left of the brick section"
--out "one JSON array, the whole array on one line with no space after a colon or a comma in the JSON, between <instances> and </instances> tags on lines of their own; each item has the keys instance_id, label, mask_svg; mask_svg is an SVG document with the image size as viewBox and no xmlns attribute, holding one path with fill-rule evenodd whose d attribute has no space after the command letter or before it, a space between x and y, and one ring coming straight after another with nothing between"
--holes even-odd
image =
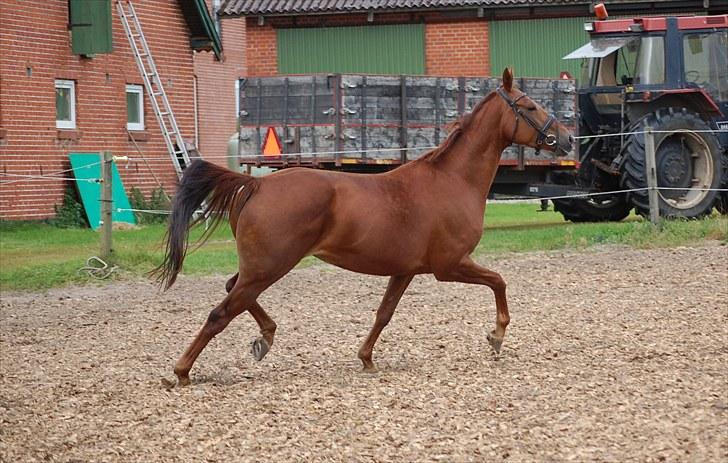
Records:
<instances>
[{"instance_id":1,"label":"long green ribbed wall panel left of the brick section","mask_svg":"<svg viewBox=\"0 0 728 463\"><path fill-rule=\"evenodd\" d=\"M424 74L423 24L278 29L280 74Z\"/></svg>"}]
</instances>

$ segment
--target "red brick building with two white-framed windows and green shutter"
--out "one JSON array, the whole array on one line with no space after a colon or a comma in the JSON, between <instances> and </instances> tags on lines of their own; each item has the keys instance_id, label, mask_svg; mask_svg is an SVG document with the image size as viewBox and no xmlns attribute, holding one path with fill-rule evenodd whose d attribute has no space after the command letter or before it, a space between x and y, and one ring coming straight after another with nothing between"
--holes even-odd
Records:
<instances>
[{"instance_id":1,"label":"red brick building with two white-framed windows and green shutter","mask_svg":"<svg viewBox=\"0 0 728 463\"><path fill-rule=\"evenodd\" d=\"M202 27L213 24L202 0L133 4L183 138L214 153L222 123L212 89L229 83L230 103L221 108L230 114L221 129L229 136L235 78L226 73L241 73L241 61L234 51L220 61L217 35ZM72 183L48 177L69 177L56 174L70 167L69 153L129 156L118 165L127 192L174 192L176 174L115 0L3 0L0 24L0 219L54 215ZM100 32L90 32L99 24ZM229 41L244 40L234 25L228 29Z\"/></svg>"}]
</instances>

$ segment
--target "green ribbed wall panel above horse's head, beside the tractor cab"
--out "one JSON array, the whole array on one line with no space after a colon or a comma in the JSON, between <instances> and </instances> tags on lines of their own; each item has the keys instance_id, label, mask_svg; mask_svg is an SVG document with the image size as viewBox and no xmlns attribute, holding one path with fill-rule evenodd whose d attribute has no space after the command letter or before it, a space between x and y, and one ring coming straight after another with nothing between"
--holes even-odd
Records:
<instances>
[{"instance_id":1,"label":"green ribbed wall panel above horse's head, beside the tractor cab","mask_svg":"<svg viewBox=\"0 0 728 463\"><path fill-rule=\"evenodd\" d=\"M494 76L513 66L517 77L559 77L569 71L581 76L581 60L562 60L589 40L584 23L594 18L491 21L490 70Z\"/></svg>"}]
</instances>

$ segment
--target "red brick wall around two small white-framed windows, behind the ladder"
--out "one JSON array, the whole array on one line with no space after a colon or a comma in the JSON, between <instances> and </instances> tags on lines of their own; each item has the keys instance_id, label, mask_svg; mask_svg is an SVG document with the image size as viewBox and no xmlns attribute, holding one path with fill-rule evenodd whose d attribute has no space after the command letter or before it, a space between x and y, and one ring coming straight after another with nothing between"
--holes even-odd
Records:
<instances>
[{"instance_id":1,"label":"red brick wall around two small white-framed windows, behind the ladder","mask_svg":"<svg viewBox=\"0 0 728 463\"><path fill-rule=\"evenodd\" d=\"M176 0L135 0L183 137L194 140L193 63L189 31ZM121 22L113 10L114 52L93 59L71 53L67 2L3 0L0 7L0 219L54 214L68 181L28 180L68 169L68 153L111 150L131 162L119 171L127 192L158 185L174 192L176 175L145 97L143 157L126 133L125 85L141 84ZM32 70L29 75L28 69ZM64 140L55 126L55 79L76 81L80 138ZM144 161L146 159L146 162ZM151 165L154 175L147 167ZM68 174L64 174L68 176Z\"/></svg>"}]
</instances>

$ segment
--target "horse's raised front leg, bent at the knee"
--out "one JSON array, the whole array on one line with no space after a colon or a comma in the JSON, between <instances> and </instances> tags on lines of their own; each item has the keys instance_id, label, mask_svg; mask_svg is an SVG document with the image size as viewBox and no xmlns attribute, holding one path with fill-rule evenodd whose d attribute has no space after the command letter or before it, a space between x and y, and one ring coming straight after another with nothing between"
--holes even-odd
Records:
<instances>
[{"instance_id":1,"label":"horse's raised front leg, bent at the knee","mask_svg":"<svg viewBox=\"0 0 728 463\"><path fill-rule=\"evenodd\" d=\"M440 281L459 281L488 286L495 295L495 329L488 334L488 342L496 353L500 353L506 327L511 321L506 300L506 282L498 273L476 264L466 256L457 265L435 273Z\"/></svg>"}]
</instances>

